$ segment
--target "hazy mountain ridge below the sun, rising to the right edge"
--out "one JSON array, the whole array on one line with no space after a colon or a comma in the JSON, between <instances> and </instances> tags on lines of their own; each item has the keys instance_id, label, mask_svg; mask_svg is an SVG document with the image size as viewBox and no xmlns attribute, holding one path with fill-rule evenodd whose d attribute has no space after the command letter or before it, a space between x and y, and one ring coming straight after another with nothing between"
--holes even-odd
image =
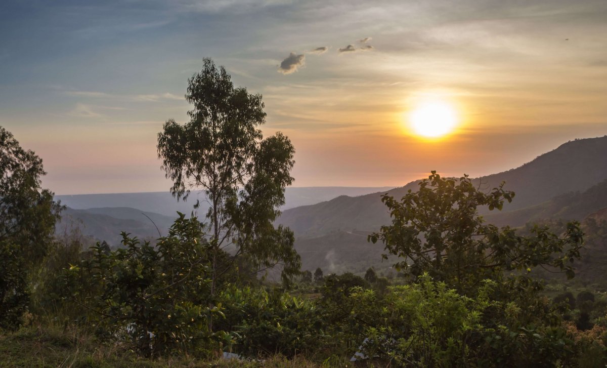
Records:
<instances>
[{"instance_id":1,"label":"hazy mountain ridge below the sun, rising to the right edge","mask_svg":"<svg viewBox=\"0 0 607 368\"><path fill-rule=\"evenodd\" d=\"M569 141L519 168L477 178L475 183L481 188L493 188L505 181L504 188L516 193L514 201L504 206L503 213L507 213L539 205L566 193L581 193L605 179L607 136ZM412 182L387 193L399 198L408 189L416 191L417 188L417 183ZM316 205L292 208L284 211L278 222L292 228L298 238L323 236L332 231L376 230L390 222L381 203L382 193L385 192L341 196ZM529 211L535 213L535 210Z\"/></svg>"}]
</instances>

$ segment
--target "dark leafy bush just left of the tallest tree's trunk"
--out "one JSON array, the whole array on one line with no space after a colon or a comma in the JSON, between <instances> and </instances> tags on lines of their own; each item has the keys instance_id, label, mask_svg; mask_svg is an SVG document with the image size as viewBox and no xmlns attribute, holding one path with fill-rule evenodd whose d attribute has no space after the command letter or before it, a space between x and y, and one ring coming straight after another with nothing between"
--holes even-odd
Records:
<instances>
[{"instance_id":1,"label":"dark leafy bush just left of the tallest tree's trunk","mask_svg":"<svg viewBox=\"0 0 607 368\"><path fill-rule=\"evenodd\" d=\"M126 338L144 355L188 352L209 342L208 319L221 314L221 306L207 306L211 245L197 219L180 214L156 247L124 233L123 245L108 251L98 243L90 259L66 273L98 332Z\"/></svg>"}]
</instances>

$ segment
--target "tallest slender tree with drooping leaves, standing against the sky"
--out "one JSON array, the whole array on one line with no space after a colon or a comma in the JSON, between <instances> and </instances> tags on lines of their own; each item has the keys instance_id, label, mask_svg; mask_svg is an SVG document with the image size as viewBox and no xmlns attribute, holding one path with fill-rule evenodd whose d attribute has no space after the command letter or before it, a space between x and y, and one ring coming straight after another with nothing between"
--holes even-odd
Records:
<instances>
[{"instance_id":1,"label":"tallest slender tree with drooping leaves, standing against the sky","mask_svg":"<svg viewBox=\"0 0 607 368\"><path fill-rule=\"evenodd\" d=\"M258 269L280 264L287 281L299 271L300 259L293 232L273 223L293 182L293 145L280 132L263 138L262 96L234 87L225 68L211 59L188 82L190 120L183 125L166 121L158 134L158 157L175 197L186 200L195 189L206 194L211 295L236 257L246 257ZM225 257L230 248L231 256Z\"/></svg>"}]
</instances>

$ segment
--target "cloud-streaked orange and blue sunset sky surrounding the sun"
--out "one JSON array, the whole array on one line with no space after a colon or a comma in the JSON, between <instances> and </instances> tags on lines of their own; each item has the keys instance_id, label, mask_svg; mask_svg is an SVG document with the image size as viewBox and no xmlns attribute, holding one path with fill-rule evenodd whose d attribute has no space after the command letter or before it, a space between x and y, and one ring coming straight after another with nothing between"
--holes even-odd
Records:
<instances>
[{"instance_id":1,"label":"cloud-streaked orange and blue sunset sky surrounding the sun","mask_svg":"<svg viewBox=\"0 0 607 368\"><path fill-rule=\"evenodd\" d=\"M294 186L516 168L607 134L607 1L0 2L0 126L56 194L168 191L157 134L212 58L263 95ZM441 138L408 117L438 99Z\"/></svg>"}]
</instances>

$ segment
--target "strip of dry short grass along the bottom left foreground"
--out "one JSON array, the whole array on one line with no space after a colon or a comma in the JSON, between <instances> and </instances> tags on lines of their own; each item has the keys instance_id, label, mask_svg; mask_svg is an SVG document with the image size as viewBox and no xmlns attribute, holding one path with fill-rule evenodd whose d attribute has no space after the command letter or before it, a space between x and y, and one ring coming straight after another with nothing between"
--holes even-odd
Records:
<instances>
[{"instance_id":1,"label":"strip of dry short grass along the bottom left foreground","mask_svg":"<svg viewBox=\"0 0 607 368\"><path fill-rule=\"evenodd\" d=\"M18 332L0 332L0 368L350 368L347 359L333 356L322 363L303 357L273 356L263 361L197 359L188 356L145 359L118 345L103 344L90 333L38 325ZM365 364L365 366L367 366Z\"/></svg>"}]
</instances>

